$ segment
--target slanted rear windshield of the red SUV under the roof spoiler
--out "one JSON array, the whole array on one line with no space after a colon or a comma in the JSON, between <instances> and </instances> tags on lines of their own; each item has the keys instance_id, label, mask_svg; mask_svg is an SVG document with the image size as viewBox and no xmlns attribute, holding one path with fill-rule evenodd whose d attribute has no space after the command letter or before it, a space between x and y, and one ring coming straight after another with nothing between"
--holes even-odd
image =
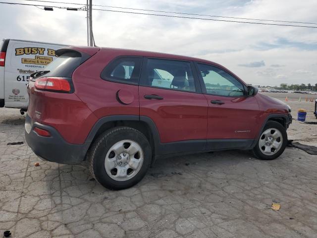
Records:
<instances>
[{"instance_id":1,"label":"slanted rear windshield of the red SUV under the roof spoiler","mask_svg":"<svg viewBox=\"0 0 317 238\"><path fill-rule=\"evenodd\" d=\"M47 72L39 74L39 76L45 75L70 78L74 70L89 57L90 56L86 54L82 55L76 51L65 52L46 65L41 71ZM38 76L35 76L34 78L36 77Z\"/></svg>"}]
</instances>

